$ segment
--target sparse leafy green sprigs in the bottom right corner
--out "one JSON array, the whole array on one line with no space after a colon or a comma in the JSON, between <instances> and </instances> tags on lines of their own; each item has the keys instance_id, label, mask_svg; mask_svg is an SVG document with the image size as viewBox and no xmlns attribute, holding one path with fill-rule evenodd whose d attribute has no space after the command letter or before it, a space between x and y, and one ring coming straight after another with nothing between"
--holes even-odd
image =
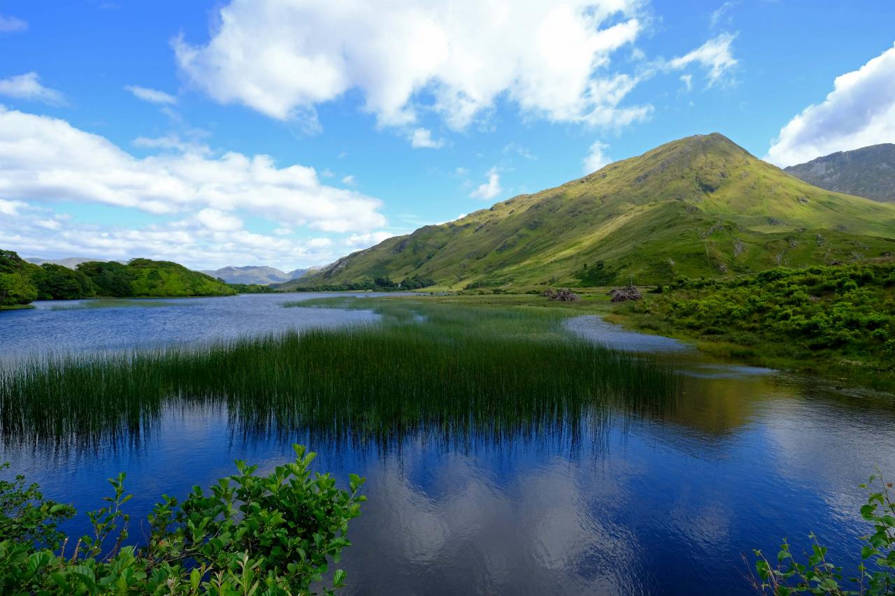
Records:
<instances>
[{"instance_id":1,"label":"sparse leafy green sprigs in the bottom right corner","mask_svg":"<svg viewBox=\"0 0 895 596\"><path fill-rule=\"evenodd\" d=\"M804 563L798 562L788 541L780 545L776 563L764 557L761 550L755 550L758 558L755 569L760 578L760 582L755 582L755 587L777 596L885 596L895 593L895 501L890 494L892 485L874 474L861 488L867 491L867 503L861 507L861 517L873 525L873 533L862 538L864 544L861 547L861 562L857 564L857 576L844 582L842 567L828 560L828 549L811 534L810 538L814 541L812 553Z\"/></svg>"}]
</instances>

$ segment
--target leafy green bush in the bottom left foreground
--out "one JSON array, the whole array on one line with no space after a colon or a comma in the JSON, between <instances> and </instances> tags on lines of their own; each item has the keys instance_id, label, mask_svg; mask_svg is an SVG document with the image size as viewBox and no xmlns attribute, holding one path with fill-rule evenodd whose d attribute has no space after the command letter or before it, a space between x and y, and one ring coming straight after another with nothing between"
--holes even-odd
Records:
<instances>
[{"instance_id":1,"label":"leafy green bush in the bottom left foreground","mask_svg":"<svg viewBox=\"0 0 895 596\"><path fill-rule=\"evenodd\" d=\"M348 522L366 500L363 479L349 490L311 473L315 454L294 446L295 460L267 476L236 462L238 473L206 494L163 496L149 515L145 544L125 546L129 515L124 473L109 479L114 496L88 513L94 533L76 543L57 531L72 507L45 500L24 478L0 481L0 592L26 594L304 594L322 583L329 560L350 542ZM332 575L342 587L345 572ZM324 592L332 590L324 588Z\"/></svg>"}]
</instances>

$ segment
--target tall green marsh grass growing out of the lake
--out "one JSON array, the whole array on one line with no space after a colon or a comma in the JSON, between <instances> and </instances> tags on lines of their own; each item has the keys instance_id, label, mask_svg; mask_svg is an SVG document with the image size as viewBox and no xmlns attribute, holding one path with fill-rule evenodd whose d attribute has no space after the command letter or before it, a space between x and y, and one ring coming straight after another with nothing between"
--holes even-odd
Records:
<instances>
[{"instance_id":1,"label":"tall green marsh grass growing out of the lake","mask_svg":"<svg viewBox=\"0 0 895 596\"><path fill-rule=\"evenodd\" d=\"M132 441L167 408L225 407L231 430L306 431L384 446L410 436L502 441L661 415L678 379L659 362L563 333L551 309L306 301L374 324L199 347L47 357L0 371L7 444Z\"/></svg>"}]
</instances>

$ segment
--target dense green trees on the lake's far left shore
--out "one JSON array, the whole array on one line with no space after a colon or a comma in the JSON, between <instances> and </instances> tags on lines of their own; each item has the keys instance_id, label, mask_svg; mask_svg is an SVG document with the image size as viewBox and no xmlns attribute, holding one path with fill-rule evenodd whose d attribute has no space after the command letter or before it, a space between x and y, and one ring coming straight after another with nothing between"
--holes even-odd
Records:
<instances>
[{"instance_id":1,"label":"dense green trees on the lake's far left shore","mask_svg":"<svg viewBox=\"0 0 895 596\"><path fill-rule=\"evenodd\" d=\"M0 307L96 296L163 298L236 292L214 277L166 260L132 259L126 265L87 261L73 270L52 263L38 267L13 251L0 251Z\"/></svg>"}]
</instances>

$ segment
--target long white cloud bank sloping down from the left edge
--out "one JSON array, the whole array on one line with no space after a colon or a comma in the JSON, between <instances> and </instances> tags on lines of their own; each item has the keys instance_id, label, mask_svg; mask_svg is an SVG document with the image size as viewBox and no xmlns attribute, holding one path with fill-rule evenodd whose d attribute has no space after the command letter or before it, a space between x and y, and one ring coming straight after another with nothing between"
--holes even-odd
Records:
<instances>
[{"instance_id":1,"label":"long white cloud bank sloping down from the left edge","mask_svg":"<svg viewBox=\"0 0 895 596\"><path fill-rule=\"evenodd\" d=\"M135 158L64 120L0 106L0 196L77 200L155 214L242 209L325 232L383 226L379 200L320 183L306 166L277 167L266 155L216 158L189 148Z\"/></svg>"}]
</instances>

